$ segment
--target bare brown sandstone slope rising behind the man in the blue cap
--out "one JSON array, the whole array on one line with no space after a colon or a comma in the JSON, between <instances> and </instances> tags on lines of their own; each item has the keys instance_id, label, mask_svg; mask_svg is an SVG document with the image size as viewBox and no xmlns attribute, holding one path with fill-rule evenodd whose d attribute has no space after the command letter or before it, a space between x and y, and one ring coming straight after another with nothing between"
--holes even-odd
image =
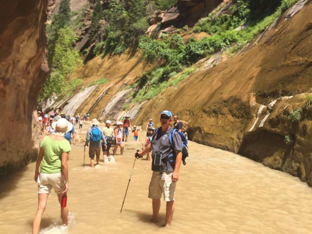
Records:
<instances>
[{"instance_id":1,"label":"bare brown sandstone slope rising behind the man in the blue cap","mask_svg":"<svg viewBox=\"0 0 312 234\"><path fill-rule=\"evenodd\" d=\"M235 57L164 90L134 122L145 125L151 117L158 125L159 113L172 110L190 124L189 139L242 154L312 186L311 106L303 108L312 96L312 1L300 0L288 12ZM289 112L297 108L303 108L302 118L292 121ZM286 135L291 144L285 144Z\"/></svg>"}]
</instances>

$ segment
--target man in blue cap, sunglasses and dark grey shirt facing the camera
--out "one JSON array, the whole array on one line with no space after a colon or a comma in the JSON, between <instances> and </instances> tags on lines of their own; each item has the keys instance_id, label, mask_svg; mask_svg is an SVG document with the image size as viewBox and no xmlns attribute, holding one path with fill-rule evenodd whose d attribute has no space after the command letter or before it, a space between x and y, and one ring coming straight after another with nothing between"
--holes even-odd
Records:
<instances>
[{"instance_id":1,"label":"man in blue cap, sunglasses and dark grey shirt facing the camera","mask_svg":"<svg viewBox=\"0 0 312 234\"><path fill-rule=\"evenodd\" d=\"M169 143L172 114L164 110L160 114L159 127L154 134L151 144L143 151L138 152L143 157L149 150L152 151L152 178L149 183L149 198L152 198L153 222L158 222L160 198L163 193L166 201L165 226L170 226L174 211L174 195L176 182L179 179L179 169L182 161L182 141L178 132L173 135L173 146Z\"/></svg>"}]
</instances>

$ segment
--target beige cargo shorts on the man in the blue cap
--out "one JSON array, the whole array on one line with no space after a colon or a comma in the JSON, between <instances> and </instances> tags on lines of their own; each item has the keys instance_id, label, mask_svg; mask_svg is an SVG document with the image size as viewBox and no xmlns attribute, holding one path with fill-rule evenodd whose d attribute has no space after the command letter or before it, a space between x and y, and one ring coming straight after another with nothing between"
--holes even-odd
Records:
<instances>
[{"instance_id":1,"label":"beige cargo shorts on the man in the blue cap","mask_svg":"<svg viewBox=\"0 0 312 234\"><path fill-rule=\"evenodd\" d=\"M166 202L174 201L176 183L172 183L172 172L163 172L159 176L159 172L153 171L151 182L149 183L149 198L163 198Z\"/></svg>"}]
</instances>

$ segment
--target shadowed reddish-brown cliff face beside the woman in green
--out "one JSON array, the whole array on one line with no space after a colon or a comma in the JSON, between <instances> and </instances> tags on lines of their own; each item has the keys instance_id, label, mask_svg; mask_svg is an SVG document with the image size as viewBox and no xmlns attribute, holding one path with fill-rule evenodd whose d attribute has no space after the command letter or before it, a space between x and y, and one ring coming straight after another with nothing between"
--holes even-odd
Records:
<instances>
[{"instance_id":1,"label":"shadowed reddish-brown cliff face beside the woman in green","mask_svg":"<svg viewBox=\"0 0 312 234\"><path fill-rule=\"evenodd\" d=\"M0 1L0 173L36 156L37 95L48 71L47 0Z\"/></svg>"}]
</instances>

